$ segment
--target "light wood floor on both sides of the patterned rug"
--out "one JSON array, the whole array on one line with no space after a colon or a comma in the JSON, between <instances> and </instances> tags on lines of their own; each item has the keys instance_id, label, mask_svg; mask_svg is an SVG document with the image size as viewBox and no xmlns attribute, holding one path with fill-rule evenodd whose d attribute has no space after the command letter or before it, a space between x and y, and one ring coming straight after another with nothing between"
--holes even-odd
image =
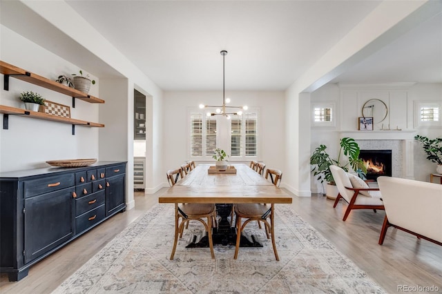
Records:
<instances>
[{"instance_id":1,"label":"light wood floor on both sides of the patterned rug","mask_svg":"<svg viewBox=\"0 0 442 294\"><path fill-rule=\"evenodd\" d=\"M117 233L157 204L157 197L164 190L155 195L135 193L134 209L115 215L35 264L23 280L8 282L8 276L1 274L0 293L50 293ZM302 219L381 284L387 293L398 292L399 285L434 285L439 287L439 293L442 292L442 246L418 240L394 228L388 230L383 246L379 246L383 211L354 210L343 222L347 204L340 203L334 209L333 201L322 195L294 197L291 205Z\"/></svg>"}]
</instances>

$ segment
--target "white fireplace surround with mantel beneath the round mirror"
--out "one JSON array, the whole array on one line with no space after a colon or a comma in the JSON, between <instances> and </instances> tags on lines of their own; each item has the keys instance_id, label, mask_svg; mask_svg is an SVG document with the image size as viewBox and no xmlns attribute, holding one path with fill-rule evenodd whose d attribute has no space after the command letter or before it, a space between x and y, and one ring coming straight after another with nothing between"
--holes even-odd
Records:
<instances>
[{"instance_id":1,"label":"white fireplace surround with mantel beneath the round mirror","mask_svg":"<svg viewBox=\"0 0 442 294\"><path fill-rule=\"evenodd\" d=\"M362 150L392 150L392 176L414 179L412 130L343 130L340 139L351 137Z\"/></svg>"}]
</instances>

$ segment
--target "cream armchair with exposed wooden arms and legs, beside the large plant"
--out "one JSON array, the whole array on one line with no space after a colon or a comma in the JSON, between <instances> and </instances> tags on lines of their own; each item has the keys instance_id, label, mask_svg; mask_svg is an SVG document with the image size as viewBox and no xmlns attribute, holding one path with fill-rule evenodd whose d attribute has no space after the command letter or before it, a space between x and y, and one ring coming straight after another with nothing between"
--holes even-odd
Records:
<instances>
[{"instance_id":1,"label":"cream armchair with exposed wooden arms and legs, beside the large plant","mask_svg":"<svg viewBox=\"0 0 442 294\"><path fill-rule=\"evenodd\" d=\"M343 221L347 219L352 209L373 209L375 213L376 209L384 209L378 188L369 188L363 179L345 172L339 166L330 166L329 168L339 191L333 207L336 207L341 198L348 203Z\"/></svg>"}]
</instances>

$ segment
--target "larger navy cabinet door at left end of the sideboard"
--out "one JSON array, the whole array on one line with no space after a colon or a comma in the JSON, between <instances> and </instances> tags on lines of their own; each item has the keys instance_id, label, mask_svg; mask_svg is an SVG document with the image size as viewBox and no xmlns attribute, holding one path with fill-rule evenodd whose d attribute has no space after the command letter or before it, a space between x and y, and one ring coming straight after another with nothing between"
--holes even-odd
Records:
<instances>
[{"instance_id":1,"label":"larger navy cabinet door at left end of the sideboard","mask_svg":"<svg viewBox=\"0 0 442 294\"><path fill-rule=\"evenodd\" d=\"M25 199L25 264L73 236L73 192L72 187Z\"/></svg>"}]
</instances>

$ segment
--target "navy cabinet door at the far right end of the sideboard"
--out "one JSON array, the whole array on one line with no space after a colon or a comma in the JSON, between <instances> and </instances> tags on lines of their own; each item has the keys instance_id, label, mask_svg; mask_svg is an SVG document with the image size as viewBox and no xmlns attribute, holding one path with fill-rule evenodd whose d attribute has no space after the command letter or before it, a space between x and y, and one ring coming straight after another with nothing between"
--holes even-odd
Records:
<instances>
[{"instance_id":1,"label":"navy cabinet door at the far right end of the sideboard","mask_svg":"<svg viewBox=\"0 0 442 294\"><path fill-rule=\"evenodd\" d=\"M106 217L113 215L126 206L125 175L117 175L106 179Z\"/></svg>"}]
</instances>

